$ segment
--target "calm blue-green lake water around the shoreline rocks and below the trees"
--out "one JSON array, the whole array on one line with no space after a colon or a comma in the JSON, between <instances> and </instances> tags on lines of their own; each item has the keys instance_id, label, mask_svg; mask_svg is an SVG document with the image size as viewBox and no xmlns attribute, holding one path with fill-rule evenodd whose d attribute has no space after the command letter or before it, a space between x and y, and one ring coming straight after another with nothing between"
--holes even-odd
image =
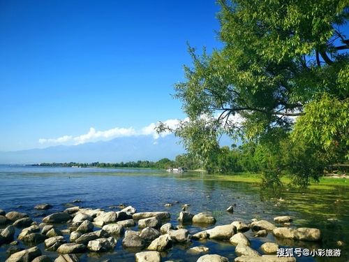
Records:
<instances>
[{"instance_id":1,"label":"calm blue-green lake water around the shoreline rocks and below the trees","mask_svg":"<svg viewBox=\"0 0 349 262\"><path fill-rule=\"evenodd\" d=\"M30 166L0 166L0 208L6 212L15 210L27 212L34 221L40 222L52 212L66 209L66 203L77 203L84 208L103 208L124 203L133 205L138 212L168 211L170 222L176 226L177 217L184 203L190 204L188 210L193 213L212 212L217 219L216 225L230 224L240 220L246 224L250 219L266 219L290 215L295 220L292 226L314 227L322 231L322 242L285 242L276 240L269 234L267 238L253 238L248 231L245 235L251 240L251 246L259 249L264 242L277 242L281 247L302 247L309 249L341 249L340 258L300 257L297 261L348 261L349 245L349 190L348 187L330 189L309 189L283 191L284 201L276 204L265 199L257 184L220 181L202 173L169 174L160 170L144 169L102 169L102 168L43 168ZM338 201L336 201L338 200ZM53 208L47 211L34 210L38 203L50 203ZM174 203L165 208L165 203ZM235 212L225 212L232 203L236 203ZM213 226L209 226L211 228ZM191 234L205 227L186 225ZM137 227L131 228L138 230ZM19 231L17 231L19 233ZM68 236L66 236L68 238ZM338 247L336 242L346 243ZM22 245L22 244L21 244ZM228 242L193 241L190 247L205 245L210 254L221 254L233 261L235 247ZM24 246L23 246L24 247ZM44 254L57 257L55 252ZM0 261L6 259L7 245L0 247ZM169 252L161 254L163 261L196 261L200 255L186 252L187 247L175 245ZM260 251L260 250L258 250ZM113 253L87 253L80 261L134 261L133 252L124 250L121 240Z\"/></svg>"}]
</instances>

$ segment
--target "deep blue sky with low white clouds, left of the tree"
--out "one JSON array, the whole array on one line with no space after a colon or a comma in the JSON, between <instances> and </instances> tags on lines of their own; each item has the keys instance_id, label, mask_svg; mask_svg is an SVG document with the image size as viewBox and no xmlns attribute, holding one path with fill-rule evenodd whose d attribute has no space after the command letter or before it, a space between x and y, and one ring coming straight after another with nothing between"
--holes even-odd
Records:
<instances>
[{"instance_id":1,"label":"deep blue sky with low white clouds, left of the tree","mask_svg":"<svg viewBox=\"0 0 349 262\"><path fill-rule=\"evenodd\" d=\"M186 41L219 47L218 10L213 0L1 0L0 151L184 118L170 94L191 64Z\"/></svg>"}]
</instances>

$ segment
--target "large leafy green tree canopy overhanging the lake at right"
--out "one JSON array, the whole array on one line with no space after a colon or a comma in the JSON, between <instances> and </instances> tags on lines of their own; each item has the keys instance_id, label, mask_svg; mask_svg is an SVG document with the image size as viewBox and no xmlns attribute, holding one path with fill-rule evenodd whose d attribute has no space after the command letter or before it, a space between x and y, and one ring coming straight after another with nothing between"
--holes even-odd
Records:
<instances>
[{"instance_id":1,"label":"large leafy green tree canopy overhanging the lake at right","mask_svg":"<svg viewBox=\"0 0 349 262\"><path fill-rule=\"evenodd\" d=\"M175 133L189 152L209 161L222 133L275 144L292 132L313 150L332 150L332 161L348 160L348 2L219 3L223 48L189 48L193 66L175 85L189 118Z\"/></svg>"}]
</instances>

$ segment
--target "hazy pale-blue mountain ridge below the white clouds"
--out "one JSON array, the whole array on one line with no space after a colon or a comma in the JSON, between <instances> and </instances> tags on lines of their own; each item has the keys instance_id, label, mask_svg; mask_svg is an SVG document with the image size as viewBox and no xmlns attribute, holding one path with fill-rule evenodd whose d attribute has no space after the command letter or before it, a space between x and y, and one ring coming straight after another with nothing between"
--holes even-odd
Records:
<instances>
[{"instance_id":1,"label":"hazy pale-blue mountain ridge below the white clouds","mask_svg":"<svg viewBox=\"0 0 349 262\"><path fill-rule=\"evenodd\" d=\"M174 135L154 139L131 136L81 145L57 145L43 149L0 152L0 163L126 162L162 158L174 159L185 152Z\"/></svg>"}]
</instances>

